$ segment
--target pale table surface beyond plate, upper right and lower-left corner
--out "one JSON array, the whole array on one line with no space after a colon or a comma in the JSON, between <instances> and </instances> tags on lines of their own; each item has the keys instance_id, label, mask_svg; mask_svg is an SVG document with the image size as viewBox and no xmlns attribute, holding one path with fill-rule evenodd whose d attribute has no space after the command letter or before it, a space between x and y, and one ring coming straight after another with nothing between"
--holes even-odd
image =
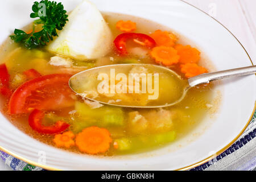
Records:
<instances>
[{"instance_id":1,"label":"pale table surface beyond plate, upper right and lower-left corner","mask_svg":"<svg viewBox=\"0 0 256 182\"><path fill-rule=\"evenodd\" d=\"M245 47L256 64L256 0L184 0L224 24ZM8 171L0 159L0 170Z\"/></svg>"}]
</instances>

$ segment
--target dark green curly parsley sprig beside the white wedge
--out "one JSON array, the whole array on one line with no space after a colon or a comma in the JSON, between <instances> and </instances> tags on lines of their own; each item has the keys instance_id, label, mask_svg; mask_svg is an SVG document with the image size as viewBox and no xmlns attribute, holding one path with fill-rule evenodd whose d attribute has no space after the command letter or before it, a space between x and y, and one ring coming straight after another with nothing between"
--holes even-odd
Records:
<instances>
[{"instance_id":1,"label":"dark green curly parsley sprig beside the white wedge","mask_svg":"<svg viewBox=\"0 0 256 182\"><path fill-rule=\"evenodd\" d=\"M23 30L15 29L14 35L10 36L14 42L21 43L28 49L46 46L50 40L53 40L54 36L58 36L57 30L62 30L68 21L64 6L55 1L34 2L32 11L30 17L39 18L33 23L33 31L27 34ZM43 24L43 29L35 32L35 24Z\"/></svg>"}]
</instances>

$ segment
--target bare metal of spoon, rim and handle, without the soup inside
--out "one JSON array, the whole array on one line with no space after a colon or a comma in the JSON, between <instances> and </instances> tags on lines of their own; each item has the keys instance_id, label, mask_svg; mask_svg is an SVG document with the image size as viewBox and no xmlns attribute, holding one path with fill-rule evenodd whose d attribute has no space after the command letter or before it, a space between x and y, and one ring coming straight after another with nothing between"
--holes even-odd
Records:
<instances>
[{"instance_id":1,"label":"bare metal of spoon, rim and handle, without the soup inside","mask_svg":"<svg viewBox=\"0 0 256 182\"><path fill-rule=\"evenodd\" d=\"M77 73L76 75L72 76L71 79L69 80L69 86L71 89L76 92L77 94L82 94L82 91L80 92L77 91L77 87L80 86L80 84L84 84L86 81L92 81L92 75L95 77L95 73L100 73L102 71L106 71L111 68L115 69L132 69L134 67L144 67L144 68L150 68L151 70L154 70L155 72L166 72L174 77L176 77L178 80L180 80L180 84L183 85L183 92L178 93L179 98L177 98L175 101L172 101L171 103L161 103L159 105L122 105L117 103L109 103L109 102L104 102L99 100L98 98L92 98L92 97L86 97L83 96L84 98L91 100L91 101L97 101L100 102L101 104L106 104L106 105L112 105L112 106L121 106L121 107L133 107L133 108L158 108L158 107L168 107L168 106L173 106L181 102L184 97L186 96L187 92L189 89L191 89L193 86L200 85L200 84L208 84L210 81L213 80L221 80L224 78L230 78L230 77L240 77L240 76L245 76L245 75L252 75L256 73L256 66L251 66L251 67L245 67L245 68L237 68L237 69L229 69L226 71L219 71L219 72L213 72L213 73L205 73L199 76L191 77L188 78L188 80L182 80L179 75L177 75L176 72L172 71L171 69L168 69L166 67L161 67L158 65L152 65L152 64L115 64L115 65L106 65L103 67L96 67L92 69L88 69L86 71ZM91 78L90 78L91 76ZM77 79L80 79L80 81L77 82ZM88 79L89 78L89 79ZM82 81L81 81L82 80ZM185 82L185 84L184 84Z\"/></svg>"}]
</instances>

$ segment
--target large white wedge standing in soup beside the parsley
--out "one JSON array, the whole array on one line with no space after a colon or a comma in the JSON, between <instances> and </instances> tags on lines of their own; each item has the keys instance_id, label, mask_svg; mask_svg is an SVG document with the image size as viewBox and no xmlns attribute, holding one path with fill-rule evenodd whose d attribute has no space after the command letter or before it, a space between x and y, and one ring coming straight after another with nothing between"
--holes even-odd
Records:
<instances>
[{"instance_id":1,"label":"large white wedge standing in soup beside the parsley","mask_svg":"<svg viewBox=\"0 0 256 182\"><path fill-rule=\"evenodd\" d=\"M50 52L73 59L98 59L112 49L113 35L93 3L83 1L68 16L68 23L48 46Z\"/></svg>"}]
</instances>

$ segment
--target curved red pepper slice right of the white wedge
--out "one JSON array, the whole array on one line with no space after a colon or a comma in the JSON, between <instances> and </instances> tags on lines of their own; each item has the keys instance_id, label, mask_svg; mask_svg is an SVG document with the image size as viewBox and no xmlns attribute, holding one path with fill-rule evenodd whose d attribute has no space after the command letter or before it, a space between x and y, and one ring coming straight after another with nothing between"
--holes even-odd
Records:
<instances>
[{"instance_id":1,"label":"curved red pepper slice right of the white wedge","mask_svg":"<svg viewBox=\"0 0 256 182\"><path fill-rule=\"evenodd\" d=\"M127 48L126 48L126 43L128 40L134 40L134 42L137 42L147 48L153 48L156 46L155 40L146 34L137 34L137 33L120 34L117 36L117 38L115 38L114 45L119 51L119 53L121 53L121 55L128 54Z\"/></svg>"}]
</instances>

